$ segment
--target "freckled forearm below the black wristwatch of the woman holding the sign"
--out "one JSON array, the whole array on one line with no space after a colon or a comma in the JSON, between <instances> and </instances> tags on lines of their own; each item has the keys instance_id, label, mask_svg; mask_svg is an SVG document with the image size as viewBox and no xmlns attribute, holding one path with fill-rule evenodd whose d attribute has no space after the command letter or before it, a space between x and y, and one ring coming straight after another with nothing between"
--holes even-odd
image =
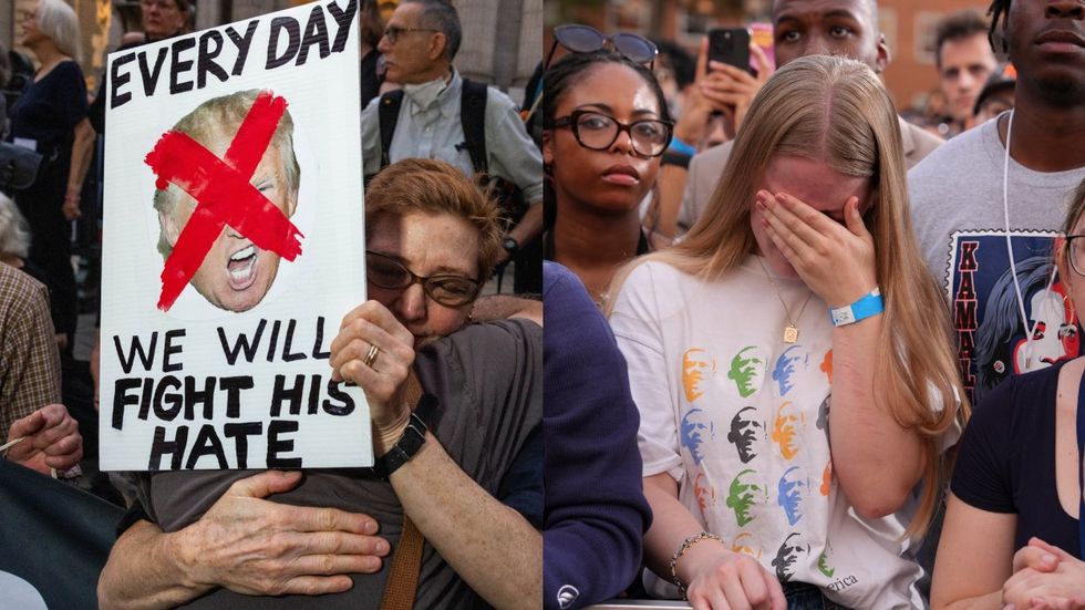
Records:
<instances>
[{"instance_id":1,"label":"freckled forearm below the black wristwatch of the woman holding the sign","mask_svg":"<svg viewBox=\"0 0 1085 610\"><path fill-rule=\"evenodd\" d=\"M486 493L426 435L391 476L404 513L453 569L495 608L538 608L542 535Z\"/></svg>"}]
</instances>

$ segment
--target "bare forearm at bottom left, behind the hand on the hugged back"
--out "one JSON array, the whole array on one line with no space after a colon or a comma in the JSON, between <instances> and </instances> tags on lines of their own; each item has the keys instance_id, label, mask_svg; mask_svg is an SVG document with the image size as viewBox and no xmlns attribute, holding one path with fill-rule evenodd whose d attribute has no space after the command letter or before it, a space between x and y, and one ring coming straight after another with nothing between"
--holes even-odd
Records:
<instances>
[{"instance_id":1,"label":"bare forearm at bottom left, behind the hand on the hugged back","mask_svg":"<svg viewBox=\"0 0 1085 610\"><path fill-rule=\"evenodd\" d=\"M97 582L102 610L176 608L210 587L197 586L182 568L176 534L164 534L149 521L138 521L117 538Z\"/></svg>"}]
</instances>

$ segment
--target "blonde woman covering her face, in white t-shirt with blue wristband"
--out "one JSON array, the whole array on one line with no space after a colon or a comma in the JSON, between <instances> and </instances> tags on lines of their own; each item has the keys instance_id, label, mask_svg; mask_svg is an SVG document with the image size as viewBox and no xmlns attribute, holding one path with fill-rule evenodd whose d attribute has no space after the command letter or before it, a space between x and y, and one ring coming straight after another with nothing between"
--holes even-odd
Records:
<instances>
[{"instance_id":1,"label":"blonde woman covering her face, in white t-shirt with blue wristband","mask_svg":"<svg viewBox=\"0 0 1085 610\"><path fill-rule=\"evenodd\" d=\"M963 392L892 101L859 62L795 60L730 163L686 239L623 269L609 308L641 415L650 591L699 610L922 608L909 555Z\"/></svg>"}]
</instances>

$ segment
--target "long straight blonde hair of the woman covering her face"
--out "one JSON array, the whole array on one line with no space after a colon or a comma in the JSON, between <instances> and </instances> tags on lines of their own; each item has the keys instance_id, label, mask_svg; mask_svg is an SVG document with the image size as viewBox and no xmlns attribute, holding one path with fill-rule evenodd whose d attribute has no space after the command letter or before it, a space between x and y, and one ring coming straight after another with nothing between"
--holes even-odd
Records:
<instances>
[{"instance_id":1,"label":"long straight blonde hair of the woman covering her face","mask_svg":"<svg viewBox=\"0 0 1085 610\"><path fill-rule=\"evenodd\" d=\"M950 344L948 306L912 231L897 114L867 65L810 55L777 71L754 99L720 184L685 240L628 265L610 293L617 294L644 260L705 281L737 268L756 251L751 205L765 167L778 155L822 161L840 174L870 178L872 206L865 221L886 302L875 383L902 399L895 403L893 418L923 437L923 494L906 535L922 533L948 473L939 459L939 436L959 412L963 423L968 405Z\"/></svg>"}]
</instances>

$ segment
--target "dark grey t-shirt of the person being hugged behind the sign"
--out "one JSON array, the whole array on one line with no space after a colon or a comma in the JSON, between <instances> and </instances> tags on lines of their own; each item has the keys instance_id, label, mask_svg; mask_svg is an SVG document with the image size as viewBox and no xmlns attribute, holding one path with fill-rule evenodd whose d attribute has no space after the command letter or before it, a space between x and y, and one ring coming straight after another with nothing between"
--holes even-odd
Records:
<instances>
[{"instance_id":1,"label":"dark grey t-shirt of the person being hugged behind the sign","mask_svg":"<svg viewBox=\"0 0 1085 610\"><path fill-rule=\"evenodd\" d=\"M472 324L421 351L415 370L441 405L430 430L448 455L490 495L542 418L542 329L509 320ZM164 531L198 519L229 486L254 471L156 473L144 486L144 506ZM366 469L307 471L297 488L272 497L297 506L329 506L364 513L396 548L403 508L391 484ZM279 598L251 597L218 589L185 608L351 608L380 607L390 561L375 575L352 575L344 593ZM422 555L417 608L472 608L476 596L428 544Z\"/></svg>"}]
</instances>

